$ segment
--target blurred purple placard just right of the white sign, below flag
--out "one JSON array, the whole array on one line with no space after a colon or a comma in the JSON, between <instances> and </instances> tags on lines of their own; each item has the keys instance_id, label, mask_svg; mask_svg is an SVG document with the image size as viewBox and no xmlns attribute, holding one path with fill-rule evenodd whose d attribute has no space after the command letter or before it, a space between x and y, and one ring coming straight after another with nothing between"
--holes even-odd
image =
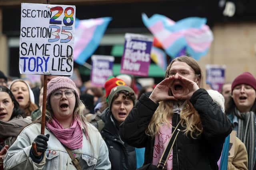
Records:
<instances>
[{"instance_id":1,"label":"blurred purple placard just right of the white sign, below flag","mask_svg":"<svg viewBox=\"0 0 256 170\"><path fill-rule=\"evenodd\" d=\"M109 76L113 75L114 57L107 55L92 56L91 84L104 87Z\"/></svg>"}]
</instances>

